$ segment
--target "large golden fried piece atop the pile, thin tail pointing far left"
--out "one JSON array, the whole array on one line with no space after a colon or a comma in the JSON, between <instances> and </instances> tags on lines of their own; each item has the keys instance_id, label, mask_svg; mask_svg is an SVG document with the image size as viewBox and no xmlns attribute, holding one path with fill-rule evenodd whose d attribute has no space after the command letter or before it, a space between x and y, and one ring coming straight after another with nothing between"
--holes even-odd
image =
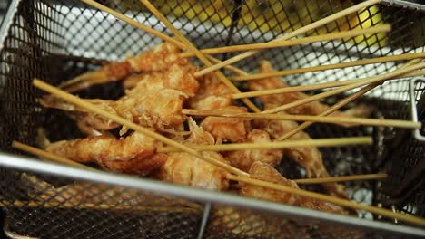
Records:
<instances>
[{"instance_id":1,"label":"large golden fried piece atop the pile, thin tail pointing far left","mask_svg":"<svg viewBox=\"0 0 425 239\"><path fill-rule=\"evenodd\" d=\"M183 101L193 96L199 84L193 78L194 66L172 64L165 72L144 73L132 89L125 91L119 100L89 100L110 113L120 115L143 126L154 129L180 127L186 116L182 113ZM114 129L118 124L98 115L86 113L62 100L45 96L39 100L44 107L74 111L80 129L99 131ZM122 134L126 129L122 130Z\"/></svg>"}]
</instances>

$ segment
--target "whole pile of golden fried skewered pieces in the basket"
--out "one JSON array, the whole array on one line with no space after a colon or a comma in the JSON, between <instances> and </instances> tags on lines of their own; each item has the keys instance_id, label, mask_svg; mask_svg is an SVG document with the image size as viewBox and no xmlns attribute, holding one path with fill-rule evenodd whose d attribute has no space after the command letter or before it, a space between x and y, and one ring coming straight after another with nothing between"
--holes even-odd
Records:
<instances>
[{"instance_id":1,"label":"whole pile of golden fried skewered pieces in the basket","mask_svg":"<svg viewBox=\"0 0 425 239\"><path fill-rule=\"evenodd\" d=\"M181 58L180 50L170 43L162 43L152 50L133 56L124 62L105 65L95 72L88 72L79 78L78 84L64 83L64 90L79 91L93 85L93 82L121 81L125 89L118 100L86 99L97 107L107 110L142 125L163 136L186 145L219 145L228 143L272 142L295 129L298 124L291 120L240 119L207 116L192 119L183 114L183 109L226 110L247 112L247 108L232 100L232 91L214 73L195 79L198 69L188 58ZM260 62L260 72L273 72L272 64ZM83 82L83 83L81 83ZM90 83L92 82L92 83ZM265 78L249 81L252 91L287 87L279 78ZM281 93L259 97L264 110L301 100L308 95L301 92ZM112 129L121 126L102 116L46 95L40 99L44 107L65 110L75 120L85 139L63 140L44 145L44 149L64 158L80 163L94 163L105 170L117 173L151 177L183 186L237 192L248 196L292 206L302 206L333 214L347 215L340 206L295 196L280 191L231 183L227 171L201 158L185 152L162 153L157 149L163 143L132 132L125 127L114 135ZM299 107L282 111L282 114L317 115L329 106L314 101ZM368 110L361 107L347 111L336 111L333 116L366 116ZM299 132L290 139L311 139L306 132ZM251 177L277 183L282 186L299 188L292 180L282 176L274 167L285 164L283 156L305 168L307 177L329 177L323 164L321 152L315 147L285 149L245 149L239 151L204 151L209 158L237 167ZM323 184L331 196L347 198L344 187L338 183Z\"/></svg>"}]
</instances>

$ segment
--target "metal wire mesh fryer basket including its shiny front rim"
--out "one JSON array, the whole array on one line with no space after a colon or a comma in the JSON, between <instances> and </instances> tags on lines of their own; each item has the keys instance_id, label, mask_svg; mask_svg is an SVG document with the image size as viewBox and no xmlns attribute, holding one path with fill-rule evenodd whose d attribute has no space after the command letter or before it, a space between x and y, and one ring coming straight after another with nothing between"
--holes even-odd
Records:
<instances>
[{"instance_id":1,"label":"metal wire mesh fryer basket including its shiny front rim","mask_svg":"<svg viewBox=\"0 0 425 239\"><path fill-rule=\"evenodd\" d=\"M104 0L104 5L168 33L136 0ZM263 43L356 1L153 1L162 13L201 48ZM236 65L255 72L261 59L278 69L305 68L400 53L423 52L425 13L421 5L385 2L350 14L306 35L390 23L390 33L310 43L263 51ZM425 235L425 230L366 212L359 218L261 202L241 196L172 186L143 178L89 172L18 156L12 140L35 145L36 129L49 139L81 136L57 110L42 109L31 86L38 77L57 85L104 62L123 59L161 43L148 33L79 1L15 0L0 29L0 200L4 229L11 237L36 238L381 238ZM222 54L226 59L232 54ZM395 69L385 62L338 70L292 74L292 85L368 77ZM387 82L361 102L375 118L410 119L410 79ZM413 106L424 122L423 81L413 85ZM119 83L80 92L84 97L117 99ZM328 102L338 97L327 99ZM351 199L406 214L425 216L424 145L409 130L317 124L311 138L371 136L371 146L322 148L331 175L386 172L384 182L346 183ZM423 133L423 129L422 129ZM305 177L282 160L288 178ZM309 187L315 190L314 187Z\"/></svg>"}]
</instances>

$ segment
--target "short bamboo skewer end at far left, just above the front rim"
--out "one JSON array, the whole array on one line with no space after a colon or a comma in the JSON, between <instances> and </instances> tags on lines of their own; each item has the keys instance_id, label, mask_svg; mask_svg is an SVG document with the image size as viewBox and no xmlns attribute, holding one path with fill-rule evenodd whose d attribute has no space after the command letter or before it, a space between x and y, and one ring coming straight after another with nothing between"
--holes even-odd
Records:
<instances>
[{"instance_id":1,"label":"short bamboo skewer end at far left, just above the front rim","mask_svg":"<svg viewBox=\"0 0 425 239\"><path fill-rule=\"evenodd\" d=\"M73 160L70 160L68 158L63 158L61 156L47 152L43 149L34 148L34 147L31 147L29 145L25 145L21 142L15 141L15 140L12 142L12 147L20 149L22 151L25 151L27 153L36 155L39 158L47 158L51 161L55 161L55 162L58 162L58 163L61 163L61 164L64 164L64 165L69 165L69 166L79 167L79 168L84 168L84 169L89 169L89 170L95 170L93 167L85 166L84 164L80 164L80 163L75 162Z\"/></svg>"}]
</instances>

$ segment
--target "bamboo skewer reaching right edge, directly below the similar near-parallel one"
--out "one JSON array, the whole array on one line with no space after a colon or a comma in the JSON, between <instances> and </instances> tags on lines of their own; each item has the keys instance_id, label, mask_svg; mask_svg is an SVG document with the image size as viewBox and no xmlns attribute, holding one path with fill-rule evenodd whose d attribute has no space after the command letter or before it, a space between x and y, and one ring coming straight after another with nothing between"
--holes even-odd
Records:
<instances>
[{"instance_id":1,"label":"bamboo skewer reaching right edge, directly below the similar near-parallel one","mask_svg":"<svg viewBox=\"0 0 425 239\"><path fill-rule=\"evenodd\" d=\"M396 78L400 79L402 77L414 77L414 76L422 76L422 75L425 75L425 70L404 73L400 76L397 76ZM257 96L262 96L262 95L281 94L281 93L298 92L298 91L321 90L321 89L324 89L324 88L346 86L346 85L350 85L352 83L358 83L358 82L361 82L361 81L365 81L367 79L368 78L353 79L353 80L346 80L346 81L331 81L331 82L323 82L323 83L317 83L317 84L308 84L308 85L301 85L301 86L276 88L276 89L263 90L263 91L248 91L248 92L232 94L232 99L237 100L237 99L242 99L242 98L247 98L247 97L257 97ZM391 79L394 79L394 78L391 78Z\"/></svg>"}]
</instances>

